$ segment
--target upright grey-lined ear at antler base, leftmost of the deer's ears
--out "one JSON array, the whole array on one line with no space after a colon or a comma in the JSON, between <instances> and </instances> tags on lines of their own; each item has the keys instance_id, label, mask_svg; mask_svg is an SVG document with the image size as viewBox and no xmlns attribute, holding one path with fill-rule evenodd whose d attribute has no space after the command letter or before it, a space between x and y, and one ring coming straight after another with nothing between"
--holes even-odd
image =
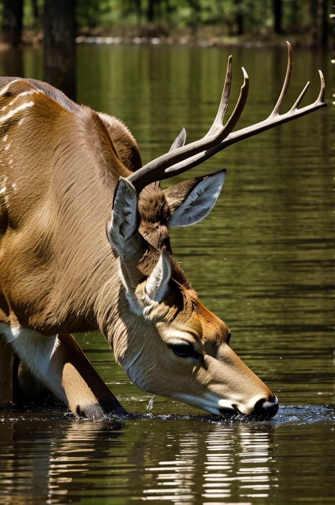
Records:
<instances>
[{"instance_id":1,"label":"upright grey-lined ear at antler base, leftmost of the deer's ears","mask_svg":"<svg viewBox=\"0 0 335 505\"><path fill-rule=\"evenodd\" d=\"M120 177L115 191L111 221L107 223L107 237L121 260L131 258L141 245L137 225L137 193L133 184Z\"/></svg>"}]
</instances>

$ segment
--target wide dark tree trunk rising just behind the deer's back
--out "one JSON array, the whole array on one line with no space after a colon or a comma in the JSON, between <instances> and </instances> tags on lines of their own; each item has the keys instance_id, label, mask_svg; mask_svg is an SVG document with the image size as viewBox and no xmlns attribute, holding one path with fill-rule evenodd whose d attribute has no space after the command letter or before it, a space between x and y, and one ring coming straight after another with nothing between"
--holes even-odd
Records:
<instances>
[{"instance_id":1,"label":"wide dark tree trunk rising just behind the deer's back","mask_svg":"<svg viewBox=\"0 0 335 505\"><path fill-rule=\"evenodd\" d=\"M44 80L76 98L75 0L44 1Z\"/></svg>"}]
</instances>

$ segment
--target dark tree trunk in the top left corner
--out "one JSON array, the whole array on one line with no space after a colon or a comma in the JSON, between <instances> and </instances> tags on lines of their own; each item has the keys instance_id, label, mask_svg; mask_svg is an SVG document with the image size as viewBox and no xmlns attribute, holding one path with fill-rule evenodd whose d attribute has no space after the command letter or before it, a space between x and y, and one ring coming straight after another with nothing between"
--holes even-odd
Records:
<instances>
[{"instance_id":1,"label":"dark tree trunk in the top left corner","mask_svg":"<svg viewBox=\"0 0 335 505\"><path fill-rule=\"evenodd\" d=\"M1 41L16 46L21 42L23 0L3 0Z\"/></svg>"}]
</instances>

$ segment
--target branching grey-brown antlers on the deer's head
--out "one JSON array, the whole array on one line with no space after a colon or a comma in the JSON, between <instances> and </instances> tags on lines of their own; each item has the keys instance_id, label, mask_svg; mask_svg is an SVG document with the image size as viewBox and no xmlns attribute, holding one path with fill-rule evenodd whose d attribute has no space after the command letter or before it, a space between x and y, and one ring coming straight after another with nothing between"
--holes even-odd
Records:
<instances>
[{"instance_id":1,"label":"branching grey-brown antlers on the deer's head","mask_svg":"<svg viewBox=\"0 0 335 505\"><path fill-rule=\"evenodd\" d=\"M298 99L295 104L291 107L291 109L285 113L280 114L282 105L285 100L285 96L289 87L291 71L292 71L292 49L291 44L287 42L288 46L288 65L286 70L286 76L284 80L284 84L282 87L282 91L277 100L276 105L274 106L271 114L261 121L260 123L256 123L255 125L248 126L246 128L242 128L236 132L232 133L234 126L237 124L242 111L244 109L249 89L249 78L242 67L244 82L241 87L241 92L239 99L237 101L236 107L228 119L226 125L223 125L225 113L228 107L228 100L231 91L232 84L232 57L230 56L228 59L227 65L227 74L224 85L224 90L222 91L220 105L214 119L214 122L206 135L202 137L200 140L196 140L195 142L191 142L189 144L183 145L182 142L177 142L177 145L181 145L179 147L175 147L175 142L171 148L171 150L152 160L151 162L144 165L142 168L134 172L128 177L128 180L132 182L135 186L137 192L139 193L145 186L150 184L151 182L167 179L169 177L173 177L174 175L181 174L190 170L191 168L199 165L204 162L208 158L212 157L214 154L218 153L221 149L224 149L228 145L234 144L235 142L239 142L248 137L252 137L257 133L261 133L262 131L269 130L274 126L281 125L288 121L292 121L295 118L299 118L304 116L305 114L309 114L310 112L316 111L321 107L326 107L327 104L324 102L324 78L321 70L319 70L320 75L320 92L313 104L310 104L302 109L298 109L298 106L304 97L309 82L307 82L306 86L300 93ZM173 148L174 147L174 148Z\"/></svg>"}]
</instances>

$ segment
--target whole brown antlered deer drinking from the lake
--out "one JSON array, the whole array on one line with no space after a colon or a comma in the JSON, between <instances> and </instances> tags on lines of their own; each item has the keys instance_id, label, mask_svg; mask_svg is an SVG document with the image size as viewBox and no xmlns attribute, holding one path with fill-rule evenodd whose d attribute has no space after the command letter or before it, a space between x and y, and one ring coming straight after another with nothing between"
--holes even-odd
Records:
<instances>
[{"instance_id":1,"label":"whole brown antlered deer drinking from the lake","mask_svg":"<svg viewBox=\"0 0 335 505\"><path fill-rule=\"evenodd\" d=\"M249 79L224 124L232 57L216 117L199 140L182 129L170 150L142 165L131 132L118 119L78 105L34 79L0 78L0 401L13 384L45 387L74 415L126 416L73 333L100 330L117 363L140 389L216 416L271 419L275 394L230 346L228 326L201 304L174 259L169 228L203 219L226 170L179 182L221 149L322 107L287 112L292 51L273 111L233 131ZM13 366L13 357L20 367Z\"/></svg>"}]
</instances>

